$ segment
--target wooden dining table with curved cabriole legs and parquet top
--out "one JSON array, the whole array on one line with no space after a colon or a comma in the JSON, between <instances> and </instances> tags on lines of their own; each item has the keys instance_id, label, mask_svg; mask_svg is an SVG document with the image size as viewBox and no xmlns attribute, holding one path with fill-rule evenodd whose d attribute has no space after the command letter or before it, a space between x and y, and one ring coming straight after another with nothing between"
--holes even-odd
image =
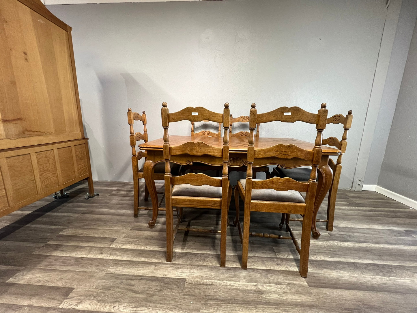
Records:
<instances>
[{"instance_id":1,"label":"wooden dining table with curved cabriole legs and parquet top","mask_svg":"<svg viewBox=\"0 0 417 313\"><path fill-rule=\"evenodd\" d=\"M221 148L223 146L223 137L203 137L203 136L169 136L169 143L171 146L179 146L188 141L204 142L210 146ZM294 138L255 138L255 149L264 149L276 144L294 144L302 149L312 150L314 143L302 141ZM246 165L246 154L248 147L248 139L245 137L233 137L229 139L229 167L241 167ZM154 227L156 219L158 217L158 194L156 192L156 185L153 179L153 173L155 165L159 162L165 162L163 158L163 138L148 141L139 145L139 149L147 152L146 162L143 166L143 172L145 176L146 187L148 188L149 195L152 201L152 220L148 222L149 227ZM316 219L319 207L326 197L327 192L332 184L333 173L329 167L329 156L335 156L340 154L339 149L331 148L329 146L322 146L322 159L320 161L317 171L317 193L316 200L314 202L313 222L311 225L312 236L314 239L320 237L320 232L317 230ZM186 159L186 158L185 158ZM192 162L199 162L196 156L190 156L191 161L181 163L183 165L190 164ZM201 156L201 161L209 164L208 158ZM285 164L285 159L276 160L278 166ZM256 160L253 164L254 167L264 166L264 164L257 164ZM231 169L233 170L233 169Z\"/></svg>"}]
</instances>

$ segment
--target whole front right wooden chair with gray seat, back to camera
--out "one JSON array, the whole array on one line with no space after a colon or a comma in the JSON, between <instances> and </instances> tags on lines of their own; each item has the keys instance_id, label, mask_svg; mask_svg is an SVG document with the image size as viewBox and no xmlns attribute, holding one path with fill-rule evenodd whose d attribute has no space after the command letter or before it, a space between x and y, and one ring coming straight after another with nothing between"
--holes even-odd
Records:
<instances>
[{"instance_id":1,"label":"whole front right wooden chair with gray seat, back to camera","mask_svg":"<svg viewBox=\"0 0 417 313\"><path fill-rule=\"evenodd\" d=\"M240 179L235 188L236 203L236 224L239 228L239 235L242 242L242 268L247 268L249 235L258 237L269 237L279 239L291 239L294 242L297 252L300 255L300 274L307 277L311 220L314 209L314 199L317 189L317 166L322 156L322 131L326 127L327 109L326 104L322 104L322 109L317 114L306 112L298 107L286 108L284 111L276 109L274 111L257 114L255 104L249 114L249 141L246 172L246 179ZM291 115L284 115L291 113ZM254 148L254 129L256 123L268 121L309 121L317 124L317 136L312 150L304 150L293 144L278 144L266 149ZM284 164L282 164L284 163ZM252 179L252 168L258 164L276 164L282 167L300 167L310 165L311 172L308 182L297 182L291 178L273 177L266 180ZM300 192L306 192L305 199ZM239 195L244 200L244 229L243 234L239 221ZM249 233L251 211L257 212L276 212L286 214L286 230L290 237L274 234ZM301 247L289 227L290 214L304 215L301 231Z\"/></svg>"}]
</instances>

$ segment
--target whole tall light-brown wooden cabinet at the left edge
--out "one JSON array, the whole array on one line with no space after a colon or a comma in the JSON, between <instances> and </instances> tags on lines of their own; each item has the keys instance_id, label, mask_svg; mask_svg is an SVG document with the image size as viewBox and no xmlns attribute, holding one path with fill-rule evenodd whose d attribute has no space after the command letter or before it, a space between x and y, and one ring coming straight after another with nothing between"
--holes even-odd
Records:
<instances>
[{"instance_id":1,"label":"whole tall light-brown wooden cabinet at the left edge","mask_svg":"<svg viewBox=\"0 0 417 313\"><path fill-rule=\"evenodd\" d=\"M70 26L0 0L0 217L91 177Z\"/></svg>"}]
</instances>

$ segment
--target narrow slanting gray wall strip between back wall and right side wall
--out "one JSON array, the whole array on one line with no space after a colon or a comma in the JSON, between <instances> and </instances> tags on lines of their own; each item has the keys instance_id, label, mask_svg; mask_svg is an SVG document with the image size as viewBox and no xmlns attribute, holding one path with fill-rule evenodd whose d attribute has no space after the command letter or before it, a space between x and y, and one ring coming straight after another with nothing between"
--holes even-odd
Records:
<instances>
[{"instance_id":1,"label":"narrow slanting gray wall strip between back wall and right side wall","mask_svg":"<svg viewBox=\"0 0 417 313\"><path fill-rule=\"evenodd\" d=\"M402 0L364 184L376 185L378 182L416 17L417 0Z\"/></svg>"}]
</instances>

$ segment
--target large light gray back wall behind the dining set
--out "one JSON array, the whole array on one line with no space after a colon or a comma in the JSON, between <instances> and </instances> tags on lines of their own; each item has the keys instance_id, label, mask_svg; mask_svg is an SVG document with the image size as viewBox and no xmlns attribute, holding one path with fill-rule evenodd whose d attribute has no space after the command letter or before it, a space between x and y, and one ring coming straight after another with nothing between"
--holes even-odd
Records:
<instances>
[{"instance_id":1,"label":"large light gray back wall behind the dining set","mask_svg":"<svg viewBox=\"0 0 417 313\"><path fill-rule=\"evenodd\" d=\"M395 1L395 0L394 0ZM241 0L56 5L73 27L78 86L95 179L131 180L126 111L206 106L235 116L279 106L353 110L340 188L350 188L387 10L385 0ZM396 27L396 26L395 26ZM389 55L388 55L389 58ZM171 134L188 134L172 124ZM314 127L271 123L264 136L314 141ZM324 136L341 136L331 125ZM366 167L366 163L365 163Z\"/></svg>"}]
</instances>

